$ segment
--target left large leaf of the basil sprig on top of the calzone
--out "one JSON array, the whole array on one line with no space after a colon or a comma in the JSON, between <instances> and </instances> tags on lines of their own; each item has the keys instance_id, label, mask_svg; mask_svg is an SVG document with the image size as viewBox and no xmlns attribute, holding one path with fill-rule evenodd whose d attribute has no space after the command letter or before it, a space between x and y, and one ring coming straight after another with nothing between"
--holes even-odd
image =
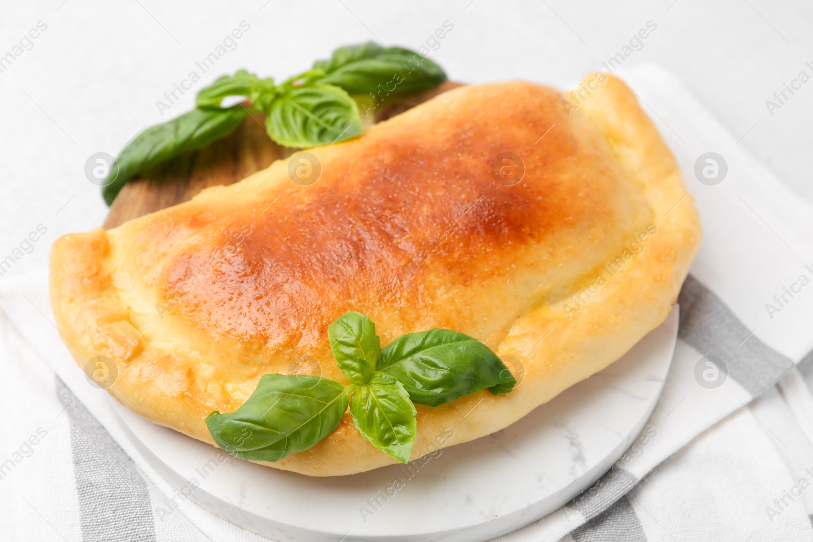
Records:
<instances>
[{"instance_id":1,"label":"left large leaf of the basil sprig on top of the calzone","mask_svg":"<svg viewBox=\"0 0 813 542\"><path fill-rule=\"evenodd\" d=\"M249 461L279 461L302 452L336 429L347 410L345 387L311 375L263 375L234 412L209 414L215 442Z\"/></svg>"}]
</instances>

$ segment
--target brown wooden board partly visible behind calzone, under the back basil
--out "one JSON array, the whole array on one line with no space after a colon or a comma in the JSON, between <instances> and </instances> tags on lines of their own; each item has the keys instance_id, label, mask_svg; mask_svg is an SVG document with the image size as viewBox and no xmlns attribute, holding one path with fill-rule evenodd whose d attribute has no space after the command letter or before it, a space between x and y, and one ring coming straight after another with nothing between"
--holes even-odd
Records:
<instances>
[{"instance_id":1,"label":"brown wooden board partly visible behind calzone, under the back basil","mask_svg":"<svg viewBox=\"0 0 813 542\"><path fill-rule=\"evenodd\" d=\"M389 119L459 86L446 81L398 102L384 102L376 107L374 120ZM125 184L103 226L115 228L141 215L187 202L207 187L236 183L295 151L271 141L265 132L265 115L248 115L228 137L173 158Z\"/></svg>"}]
</instances>

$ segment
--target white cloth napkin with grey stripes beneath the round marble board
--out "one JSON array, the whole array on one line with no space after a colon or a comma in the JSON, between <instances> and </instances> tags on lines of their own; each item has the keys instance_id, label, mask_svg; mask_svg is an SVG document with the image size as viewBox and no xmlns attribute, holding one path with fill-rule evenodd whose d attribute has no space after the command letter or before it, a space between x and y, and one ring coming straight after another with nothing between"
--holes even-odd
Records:
<instances>
[{"instance_id":1,"label":"white cloth napkin with grey stripes beneath the round marble board","mask_svg":"<svg viewBox=\"0 0 813 542\"><path fill-rule=\"evenodd\" d=\"M796 366L813 348L813 208L667 72L620 76L676 154L705 232L646 426L657 435L501 540L813 540L813 357ZM710 152L727 169L719 184L695 175ZM59 340L44 272L2 284L0 309L4 539L266 540L180 495L133 449Z\"/></svg>"}]
</instances>

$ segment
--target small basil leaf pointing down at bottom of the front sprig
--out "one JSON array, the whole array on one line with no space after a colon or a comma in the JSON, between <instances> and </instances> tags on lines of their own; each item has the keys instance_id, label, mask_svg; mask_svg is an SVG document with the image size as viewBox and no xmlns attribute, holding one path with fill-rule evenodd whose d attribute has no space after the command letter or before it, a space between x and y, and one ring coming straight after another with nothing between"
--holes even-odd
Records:
<instances>
[{"instance_id":1,"label":"small basil leaf pointing down at bottom of the front sprig","mask_svg":"<svg viewBox=\"0 0 813 542\"><path fill-rule=\"evenodd\" d=\"M409 462L415 444L415 405L389 375L376 372L370 382L354 386L350 416L356 429L373 446L402 463Z\"/></svg>"}]
</instances>

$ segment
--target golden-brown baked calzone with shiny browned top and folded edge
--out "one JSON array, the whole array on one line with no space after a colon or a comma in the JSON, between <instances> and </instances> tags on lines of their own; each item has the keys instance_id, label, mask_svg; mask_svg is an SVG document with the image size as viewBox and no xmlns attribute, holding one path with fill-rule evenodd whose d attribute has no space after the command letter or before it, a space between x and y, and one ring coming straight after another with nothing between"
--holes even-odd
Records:
<instances>
[{"instance_id":1,"label":"golden-brown baked calzone with shiny browned top and folded edge","mask_svg":"<svg viewBox=\"0 0 813 542\"><path fill-rule=\"evenodd\" d=\"M448 327L524 372L506 395L418 405L413 459L514 423L659 325L701 239L656 128L620 80L585 81L597 76L577 109L523 81L454 89L310 150L322 167L310 186L278 161L59 238L50 295L66 345L81 366L115 361L110 392L124 405L212 443L207 414L237 409L261 375L302 356L346 383L327 328L359 310L382 345ZM524 162L519 184L492 174L505 152ZM393 462L346 414L315 447L267 465L325 476Z\"/></svg>"}]
</instances>

